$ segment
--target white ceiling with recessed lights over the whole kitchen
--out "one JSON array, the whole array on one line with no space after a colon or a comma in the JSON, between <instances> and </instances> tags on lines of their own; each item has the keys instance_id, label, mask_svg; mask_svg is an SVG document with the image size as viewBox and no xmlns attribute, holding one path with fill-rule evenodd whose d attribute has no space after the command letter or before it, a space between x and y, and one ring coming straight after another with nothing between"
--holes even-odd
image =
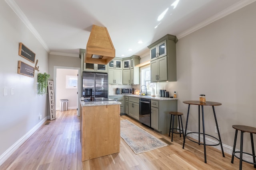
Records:
<instances>
[{"instance_id":1,"label":"white ceiling with recessed lights over the whole kitchen","mask_svg":"<svg viewBox=\"0 0 256 170\"><path fill-rule=\"evenodd\" d=\"M86 49L93 24L108 29L116 57L144 57L164 35L180 39L255 0L179 0L174 9L175 1L6 0L50 54L73 57Z\"/></svg>"}]
</instances>

